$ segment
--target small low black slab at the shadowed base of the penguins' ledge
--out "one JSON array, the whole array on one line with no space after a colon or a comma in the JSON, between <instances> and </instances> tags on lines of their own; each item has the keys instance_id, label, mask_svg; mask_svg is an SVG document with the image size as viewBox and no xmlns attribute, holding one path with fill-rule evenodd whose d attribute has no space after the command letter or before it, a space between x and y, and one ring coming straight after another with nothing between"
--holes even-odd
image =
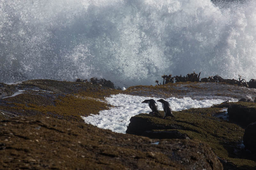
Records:
<instances>
[{"instance_id":1,"label":"small low black slab at the shadowed base of the penguins' ledge","mask_svg":"<svg viewBox=\"0 0 256 170\"><path fill-rule=\"evenodd\" d=\"M154 139L190 139L187 134L182 134L177 130L145 131L141 136Z\"/></svg>"}]
</instances>

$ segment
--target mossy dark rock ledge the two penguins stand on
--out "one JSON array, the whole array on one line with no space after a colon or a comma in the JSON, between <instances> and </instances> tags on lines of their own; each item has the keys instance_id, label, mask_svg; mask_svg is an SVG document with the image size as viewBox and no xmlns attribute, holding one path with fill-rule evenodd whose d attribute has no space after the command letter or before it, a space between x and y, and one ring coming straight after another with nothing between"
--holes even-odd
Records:
<instances>
[{"instance_id":1,"label":"mossy dark rock ledge the two penguins stand on","mask_svg":"<svg viewBox=\"0 0 256 170\"><path fill-rule=\"evenodd\" d=\"M225 167L234 164L241 170L254 168L256 157L244 152L240 147L244 129L212 116L219 112L221 112L220 108L193 108L173 112L174 118L167 119L139 114L131 117L126 133L145 136L149 133L148 137L163 138L164 135L154 136L154 132L178 131L185 137L208 143L214 153L221 158ZM160 114L163 114L163 111L160 111ZM168 135L166 136L169 138ZM177 135L177 138L179 137L180 135Z\"/></svg>"}]
</instances>

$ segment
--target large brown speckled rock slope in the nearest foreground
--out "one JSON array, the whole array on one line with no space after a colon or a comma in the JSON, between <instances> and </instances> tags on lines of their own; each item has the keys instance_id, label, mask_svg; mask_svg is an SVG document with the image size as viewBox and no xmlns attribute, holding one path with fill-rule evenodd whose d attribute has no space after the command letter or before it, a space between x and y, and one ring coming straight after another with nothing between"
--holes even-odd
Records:
<instances>
[{"instance_id":1,"label":"large brown speckled rock slope in the nearest foreground","mask_svg":"<svg viewBox=\"0 0 256 170\"><path fill-rule=\"evenodd\" d=\"M39 116L4 120L0 129L0 169L223 169L198 140L150 139Z\"/></svg>"}]
</instances>

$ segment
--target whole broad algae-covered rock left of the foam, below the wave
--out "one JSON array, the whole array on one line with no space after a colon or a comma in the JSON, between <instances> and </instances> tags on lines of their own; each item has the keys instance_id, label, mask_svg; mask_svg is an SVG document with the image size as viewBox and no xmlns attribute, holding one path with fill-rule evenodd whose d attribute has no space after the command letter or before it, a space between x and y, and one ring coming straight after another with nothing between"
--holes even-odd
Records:
<instances>
[{"instance_id":1,"label":"whole broad algae-covered rock left of the foam, below the wave","mask_svg":"<svg viewBox=\"0 0 256 170\"><path fill-rule=\"evenodd\" d=\"M84 82L57 80L28 80L20 84L5 85L21 94L0 99L0 120L15 116L45 115L77 122L81 116L98 114L109 109L104 97L122 92ZM6 88L5 88L6 89Z\"/></svg>"}]
</instances>

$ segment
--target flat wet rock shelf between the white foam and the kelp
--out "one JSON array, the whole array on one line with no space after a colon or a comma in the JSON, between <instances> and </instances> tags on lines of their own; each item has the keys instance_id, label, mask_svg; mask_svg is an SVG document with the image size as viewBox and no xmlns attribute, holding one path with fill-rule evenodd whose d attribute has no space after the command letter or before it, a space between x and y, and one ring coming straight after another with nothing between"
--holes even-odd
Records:
<instances>
[{"instance_id":1,"label":"flat wet rock shelf between the white foam and the kelp","mask_svg":"<svg viewBox=\"0 0 256 170\"><path fill-rule=\"evenodd\" d=\"M170 83L156 86L132 86L125 91L131 95L148 96L148 97L191 97L196 100L205 99L252 99L256 96L256 89L228 85L224 83Z\"/></svg>"}]
</instances>

